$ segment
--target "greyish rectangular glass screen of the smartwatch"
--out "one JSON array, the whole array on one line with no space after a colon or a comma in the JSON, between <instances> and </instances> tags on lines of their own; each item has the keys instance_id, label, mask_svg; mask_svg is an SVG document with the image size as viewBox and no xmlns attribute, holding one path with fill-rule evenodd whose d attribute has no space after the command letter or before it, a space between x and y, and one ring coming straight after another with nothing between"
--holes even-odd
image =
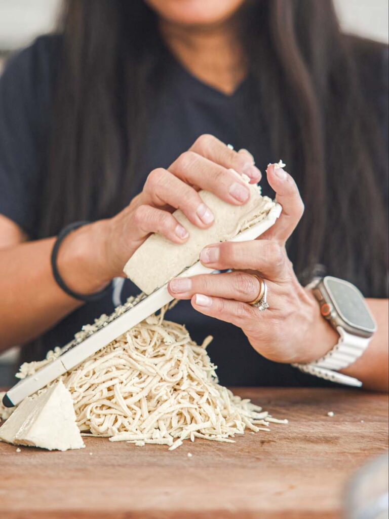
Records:
<instances>
[{"instance_id":1,"label":"greyish rectangular glass screen of the smartwatch","mask_svg":"<svg viewBox=\"0 0 389 519\"><path fill-rule=\"evenodd\" d=\"M339 316L359 330L373 333L376 330L363 295L347 281L327 276L324 285Z\"/></svg>"}]
</instances>

